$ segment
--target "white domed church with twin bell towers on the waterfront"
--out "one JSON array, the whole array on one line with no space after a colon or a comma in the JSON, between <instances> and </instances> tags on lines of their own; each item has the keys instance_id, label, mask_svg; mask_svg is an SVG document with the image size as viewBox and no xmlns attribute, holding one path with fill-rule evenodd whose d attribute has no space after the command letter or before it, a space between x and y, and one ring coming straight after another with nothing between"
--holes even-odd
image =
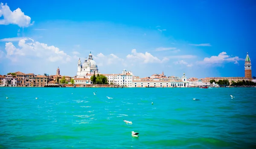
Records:
<instances>
[{"instance_id":1,"label":"white domed church with twin bell towers on the waterfront","mask_svg":"<svg viewBox=\"0 0 256 149\"><path fill-rule=\"evenodd\" d=\"M93 55L90 52L88 60L85 58L84 63L82 64L81 59L79 58L77 62L77 78L84 78L87 74L99 73L98 66L93 60Z\"/></svg>"}]
</instances>

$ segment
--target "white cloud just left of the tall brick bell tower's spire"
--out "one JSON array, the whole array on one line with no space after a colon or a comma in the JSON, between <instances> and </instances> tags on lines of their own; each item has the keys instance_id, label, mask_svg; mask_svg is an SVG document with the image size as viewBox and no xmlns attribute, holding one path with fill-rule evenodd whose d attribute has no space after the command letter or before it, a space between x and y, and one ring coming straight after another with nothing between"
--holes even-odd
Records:
<instances>
[{"instance_id":1,"label":"white cloud just left of the tall brick bell tower's spire","mask_svg":"<svg viewBox=\"0 0 256 149\"><path fill-rule=\"evenodd\" d=\"M238 56L230 57L226 52L219 53L218 56L211 56L210 58L205 57L203 61L198 62L199 64L221 64L223 62L235 62L240 59Z\"/></svg>"}]
</instances>

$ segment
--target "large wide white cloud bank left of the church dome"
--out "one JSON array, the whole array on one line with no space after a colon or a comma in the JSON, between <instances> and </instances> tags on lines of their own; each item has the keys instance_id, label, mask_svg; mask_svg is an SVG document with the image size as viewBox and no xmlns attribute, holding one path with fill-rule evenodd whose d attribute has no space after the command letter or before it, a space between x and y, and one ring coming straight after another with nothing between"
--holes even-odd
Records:
<instances>
[{"instance_id":1,"label":"large wide white cloud bank left of the church dome","mask_svg":"<svg viewBox=\"0 0 256 149\"><path fill-rule=\"evenodd\" d=\"M19 48L16 48L12 42L6 43L7 58L18 61L37 57L37 60L43 59L49 62L70 62L71 56L60 51L55 46L48 46L45 43L34 41L33 39L20 39Z\"/></svg>"}]
</instances>

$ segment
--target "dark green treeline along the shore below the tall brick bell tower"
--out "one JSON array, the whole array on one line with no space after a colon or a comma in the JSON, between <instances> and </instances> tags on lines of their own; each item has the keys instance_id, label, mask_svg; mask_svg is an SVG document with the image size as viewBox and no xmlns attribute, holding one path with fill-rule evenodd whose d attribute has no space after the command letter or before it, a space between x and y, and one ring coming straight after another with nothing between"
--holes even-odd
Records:
<instances>
[{"instance_id":1,"label":"dark green treeline along the shore below the tall brick bell tower","mask_svg":"<svg viewBox=\"0 0 256 149\"><path fill-rule=\"evenodd\" d=\"M232 86L243 86L243 85L252 86L252 85L256 85L256 83L254 83L254 82L244 81L244 80L243 81L238 81L238 82L231 81L231 84L228 80L219 80L219 81L210 80L211 84L213 82L215 82L215 84L218 84L218 85L232 85Z\"/></svg>"}]
</instances>

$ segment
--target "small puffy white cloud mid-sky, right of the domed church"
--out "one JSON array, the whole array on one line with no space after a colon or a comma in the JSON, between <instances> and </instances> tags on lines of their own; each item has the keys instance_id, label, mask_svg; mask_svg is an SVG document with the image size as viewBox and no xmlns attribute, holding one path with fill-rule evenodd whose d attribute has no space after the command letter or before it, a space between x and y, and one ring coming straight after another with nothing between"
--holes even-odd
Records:
<instances>
[{"instance_id":1,"label":"small puffy white cloud mid-sky, right of the domed church","mask_svg":"<svg viewBox=\"0 0 256 149\"><path fill-rule=\"evenodd\" d=\"M145 52L144 53L137 53L136 49L133 49L131 51L132 54L128 54L126 56L127 59L131 59L131 60L137 60L140 61L144 64L147 63L163 63L168 61L169 59L164 57L162 60L158 59L157 57L151 55L151 53Z\"/></svg>"}]
</instances>

